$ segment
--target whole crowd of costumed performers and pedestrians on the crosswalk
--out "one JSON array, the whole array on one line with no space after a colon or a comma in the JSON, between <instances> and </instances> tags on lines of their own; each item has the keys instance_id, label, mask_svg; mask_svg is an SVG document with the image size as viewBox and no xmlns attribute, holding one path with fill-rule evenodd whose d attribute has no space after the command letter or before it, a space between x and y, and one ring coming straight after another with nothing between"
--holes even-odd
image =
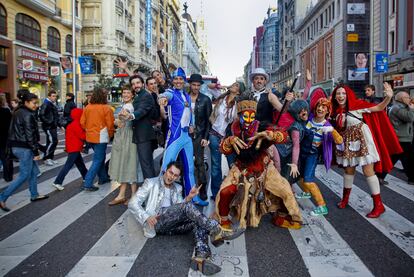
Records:
<instances>
[{"instance_id":1,"label":"whole crowd of costumed performers and pedestrians on the crosswalk","mask_svg":"<svg viewBox=\"0 0 414 277\"><path fill-rule=\"evenodd\" d=\"M365 98L358 99L345 84L338 84L331 95L320 87L311 90L311 74L304 72L304 92L294 93L292 87L282 94L268 89L269 75L256 68L249 76L251 88L242 81L228 87L211 83L207 95L201 93L202 76L187 78L180 67L173 72L154 70L144 80L126 62L119 59L117 65L130 78L122 87L123 103L115 111L102 88L93 91L83 109L67 93L63 116L57 110L55 91L49 91L40 108L38 96L25 89L17 92L10 106L0 98L0 158L3 178L10 182L0 193L4 212L10 211L7 199L25 182L31 201L48 198L37 191L37 163L43 159L46 165L55 164L59 128L65 132L67 159L51 185L64 190L73 165L86 192L99 190L96 177L99 185L118 182L118 195L108 204L128 205L146 237L192 231L196 247L191 267L205 275L220 271L210 259L209 238L218 247L247 227L257 227L268 213L276 226L299 229L298 198L315 201L311 215L328 214L315 180L318 163L326 170L333 164L344 168L341 209L347 207L356 167L362 167L373 199L370 218L385 212L380 185L387 184L384 179L398 160L408 183L414 185L414 101L406 91L394 92L388 83L384 83L384 97L377 97L375 87L367 85ZM38 121L46 145L39 143ZM153 152L159 147L164 154L157 174ZM82 158L86 148L94 152L88 169ZM223 154L229 165L224 179ZM20 167L15 178L13 160ZM209 201L208 179L214 202ZM296 182L300 193L292 189ZM212 215L197 208L212 203Z\"/></svg>"}]
</instances>

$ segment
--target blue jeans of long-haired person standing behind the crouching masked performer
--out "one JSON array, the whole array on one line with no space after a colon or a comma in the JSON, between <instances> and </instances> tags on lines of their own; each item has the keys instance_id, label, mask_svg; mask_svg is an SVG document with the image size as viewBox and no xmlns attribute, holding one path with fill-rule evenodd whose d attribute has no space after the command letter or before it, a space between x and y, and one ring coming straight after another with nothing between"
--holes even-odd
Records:
<instances>
[{"instance_id":1,"label":"blue jeans of long-haired person standing behind the crouching masked performer","mask_svg":"<svg viewBox=\"0 0 414 277\"><path fill-rule=\"evenodd\" d=\"M221 172L221 152L220 141L221 138L210 134L210 155L211 155L211 193L215 199L218 191L220 190L221 182L223 181L223 173ZM226 156L229 167L235 162L236 155L231 154Z\"/></svg>"}]
</instances>

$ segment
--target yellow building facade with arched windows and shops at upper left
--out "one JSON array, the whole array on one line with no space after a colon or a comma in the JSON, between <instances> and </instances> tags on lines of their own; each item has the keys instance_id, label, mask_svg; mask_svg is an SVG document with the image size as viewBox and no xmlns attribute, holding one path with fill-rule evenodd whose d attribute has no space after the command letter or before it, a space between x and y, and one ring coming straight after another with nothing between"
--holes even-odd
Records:
<instances>
[{"instance_id":1,"label":"yellow building facade with arched windows and shops at upper left","mask_svg":"<svg viewBox=\"0 0 414 277\"><path fill-rule=\"evenodd\" d=\"M79 2L75 9L77 41L81 29ZM67 92L73 92L71 56L70 1L1 1L0 88L10 97L27 88L43 99L54 89L62 101Z\"/></svg>"}]
</instances>

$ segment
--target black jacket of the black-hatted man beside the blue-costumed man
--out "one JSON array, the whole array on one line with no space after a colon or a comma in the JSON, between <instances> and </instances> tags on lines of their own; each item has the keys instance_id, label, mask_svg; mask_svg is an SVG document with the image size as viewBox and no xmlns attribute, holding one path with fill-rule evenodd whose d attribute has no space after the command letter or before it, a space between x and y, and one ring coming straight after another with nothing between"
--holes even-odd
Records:
<instances>
[{"instance_id":1,"label":"black jacket of the black-hatted man beside the blue-costumed man","mask_svg":"<svg viewBox=\"0 0 414 277\"><path fill-rule=\"evenodd\" d=\"M194 107L194 138L201 137L201 139L208 140L211 128L209 118L212 109L210 98L202 93L199 93Z\"/></svg>"}]
</instances>

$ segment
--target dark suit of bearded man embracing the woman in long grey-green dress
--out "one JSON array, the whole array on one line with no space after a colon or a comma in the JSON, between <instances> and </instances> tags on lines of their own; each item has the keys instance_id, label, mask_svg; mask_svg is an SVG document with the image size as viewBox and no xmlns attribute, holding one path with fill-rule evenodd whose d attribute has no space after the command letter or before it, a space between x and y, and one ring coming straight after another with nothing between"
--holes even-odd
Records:
<instances>
[{"instance_id":1,"label":"dark suit of bearded man embracing the woman in long grey-green dress","mask_svg":"<svg viewBox=\"0 0 414 277\"><path fill-rule=\"evenodd\" d=\"M155 132L152 128L153 109L156 109L154 99L145 89L141 89L134 98L134 117L132 122L133 142L137 145L139 162L144 178L155 177L154 161L152 157L152 140Z\"/></svg>"}]
</instances>

